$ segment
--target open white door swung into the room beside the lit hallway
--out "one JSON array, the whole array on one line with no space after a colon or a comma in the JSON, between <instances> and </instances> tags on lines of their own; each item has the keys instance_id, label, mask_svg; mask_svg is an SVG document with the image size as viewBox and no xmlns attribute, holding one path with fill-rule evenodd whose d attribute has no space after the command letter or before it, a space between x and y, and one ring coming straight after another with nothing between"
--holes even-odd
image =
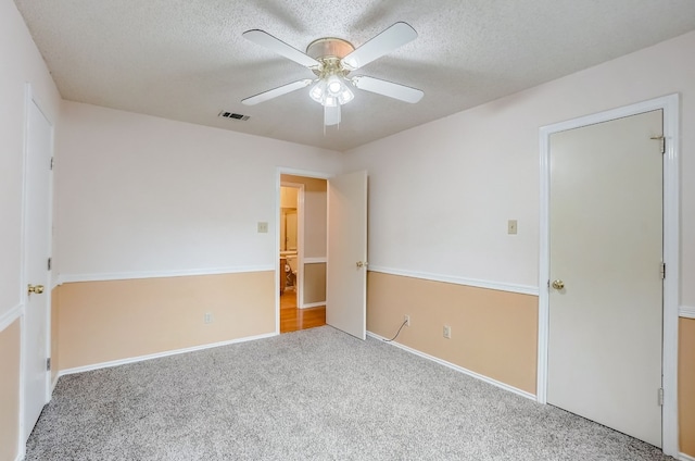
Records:
<instances>
[{"instance_id":1,"label":"open white door swung into the room beside the lit hallway","mask_svg":"<svg viewBox=\"0 0 695 461\"><path fill-rule=\"evenodd\" d=\"M326 323L357 338L367 331L367 172L328 179Z\"/></svg>"}]
</instances>

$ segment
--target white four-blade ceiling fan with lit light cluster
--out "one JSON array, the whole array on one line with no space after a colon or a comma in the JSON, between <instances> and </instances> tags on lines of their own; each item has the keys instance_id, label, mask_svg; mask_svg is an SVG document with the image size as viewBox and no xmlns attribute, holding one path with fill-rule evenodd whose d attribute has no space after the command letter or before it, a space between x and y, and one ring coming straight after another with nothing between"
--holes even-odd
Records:
<instances>
[{"instance_id":1,"label":"white four-blade ceiling fan with lit light cluster","mask_svg":"<svg viewBox=\"0 0 695 461\"><path fill-rule=\"evenodd\" d=\"M410 103L418 102L425 95L419 89L392 82L366 75L349 75L417 38L415 29L403 22L393 24L358 48L341 38L325 37L312 41L305 53L264 30L247 30L243 37L308 67L316 75L316 78L292 82L243 99L241 102L245 105L254 105L313 84L309 97L324 107L324 125L330 126L340 123L340 107L354 98L351 87Z\"/></svg>"}]
</instances>

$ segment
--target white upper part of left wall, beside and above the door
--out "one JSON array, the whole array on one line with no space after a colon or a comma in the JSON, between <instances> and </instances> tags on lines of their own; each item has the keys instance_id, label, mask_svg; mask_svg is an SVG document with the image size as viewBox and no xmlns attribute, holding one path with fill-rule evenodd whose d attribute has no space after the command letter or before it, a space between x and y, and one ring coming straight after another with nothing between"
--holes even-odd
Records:
<instances>
[{"instance_id":1,"label":"white upper part of left wall, beside and above the door","mask_svg":"<svg viewBox=\"0 0 695 461\"><path fill-rule=\"evenodd\" d=\"M54 124L60 95L12 0L0 0L0 316L22 302L26 83Z\"/></svg>"}]
</instances>

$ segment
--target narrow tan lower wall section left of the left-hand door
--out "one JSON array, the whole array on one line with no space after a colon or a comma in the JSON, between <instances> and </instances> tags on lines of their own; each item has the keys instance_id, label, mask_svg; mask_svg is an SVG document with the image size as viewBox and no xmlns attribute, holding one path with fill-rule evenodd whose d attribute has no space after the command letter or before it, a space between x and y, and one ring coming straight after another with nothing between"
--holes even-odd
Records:
<instances>
[{"instance_id":1,"label":"narrow tan lower wall section left of the left-hand door","mask_svg":"<svg viewBox=\"0 0 695 461\"><path fill-rule=\"evenodd\" d=\"M15 460L18 453L20 322L0 332L0 460Z\"/></svg>"}]
</instances>

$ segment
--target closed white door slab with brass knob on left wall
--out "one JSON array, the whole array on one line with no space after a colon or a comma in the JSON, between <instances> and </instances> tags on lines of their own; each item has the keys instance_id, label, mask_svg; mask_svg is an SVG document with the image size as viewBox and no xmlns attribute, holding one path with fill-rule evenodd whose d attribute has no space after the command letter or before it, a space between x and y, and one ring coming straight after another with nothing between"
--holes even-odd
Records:
<instances>
[{"instance_id":1,"label":"closed white door slab with brass knob on left wall","mask_svg":"<svg viewBox=\"0 0 695 461\"><path fill-rule=\"evenodd\" d=\"M50 182L53 127L34 101L28 103L25 159L24 269L24 439L48 401Z\"/></svg>"}]
</instances>

